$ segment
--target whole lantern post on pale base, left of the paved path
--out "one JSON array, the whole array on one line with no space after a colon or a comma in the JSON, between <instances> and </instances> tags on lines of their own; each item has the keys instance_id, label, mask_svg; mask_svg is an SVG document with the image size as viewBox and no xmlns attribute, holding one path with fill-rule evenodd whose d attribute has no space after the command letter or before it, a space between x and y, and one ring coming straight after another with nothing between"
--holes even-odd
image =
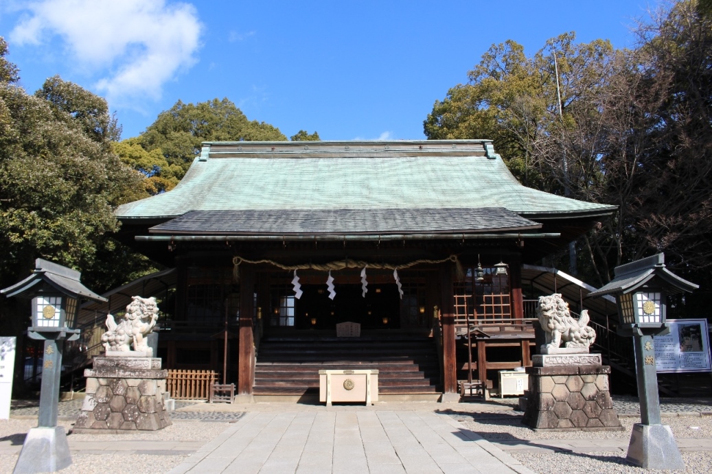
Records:
<instances>
[{"instance_id":1,"label":"whole lantern post on pale base, left of the paved path","mask_svg":"<svg viewBox=\"0 0 712 474\"><path fill-rule=\"evenodd\" d=\"M0 293L32 300L31 339L44 341L40 413L37 428L25 438L15 473L46 473L72 463L64 428L57 426L59 381L64 341L79 338L75 329L80 300L106 301L79 281L81 273L38 258L33 273Z\"/></svg>"}]
</instances>

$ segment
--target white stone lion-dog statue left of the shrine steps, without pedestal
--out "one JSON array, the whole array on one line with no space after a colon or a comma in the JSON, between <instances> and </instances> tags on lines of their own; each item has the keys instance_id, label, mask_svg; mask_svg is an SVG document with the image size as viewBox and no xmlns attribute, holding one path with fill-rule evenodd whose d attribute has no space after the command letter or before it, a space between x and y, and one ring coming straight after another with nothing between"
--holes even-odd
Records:
<instances>
[{"instance_id":1,"label":"white stone lion-dog statue left of the shrine steps, without pedestal","mask_svg":"<svg viewBox=\"0 0 712 474\"><path fill-rule=\"evenodd\" d=\"M153 349L148 347L146 336L153 331L157 320L156 298L134 296L118 324L112 315L106 315L108 331L101 335L101 342L107 351L129 352L130 346L133 346L133 350L153 357Z\"/></svg>"}]
</instances>

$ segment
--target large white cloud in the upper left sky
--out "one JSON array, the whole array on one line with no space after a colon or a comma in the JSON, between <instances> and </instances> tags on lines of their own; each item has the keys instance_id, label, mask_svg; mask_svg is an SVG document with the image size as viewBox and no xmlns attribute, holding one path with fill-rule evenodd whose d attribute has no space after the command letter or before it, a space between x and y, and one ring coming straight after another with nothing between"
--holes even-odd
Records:
<instances>
[{"instance_id":1,"label":"large white cloud in the upper left sky","mask_svg":"<svg viewBox=\"0 0 712 474\"><path fill-rule=\"evenodd\" d=\"M42 0L11 31L17 45L63 40L110 102L158 99L164 83L196 62L202 29L194 6L165 0Z\"/></svg>"}]
</instances>

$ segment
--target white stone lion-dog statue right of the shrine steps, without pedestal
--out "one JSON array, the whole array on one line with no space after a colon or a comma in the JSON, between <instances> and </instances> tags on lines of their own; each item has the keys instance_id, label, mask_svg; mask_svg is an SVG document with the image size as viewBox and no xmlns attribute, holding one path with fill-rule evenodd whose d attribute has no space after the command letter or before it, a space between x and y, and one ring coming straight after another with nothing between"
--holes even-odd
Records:
<instances>
[{"instance_id":1,"label":"white stone lion-dog statue right of the shrine steps, without pedestal","mask_svg":"<svg viewBox=\"0 0 712 474\"><path fill-rule=\"evenodd\" d=\"M536 315L546 335L542 352L558 349L562 341L565 347L579 347L585 349L582 352L588 352L596 340L596 332L588 326L588 310L582 310L579 319L575 320L569 312L569 304L558 293L540 296Z\"/></svg>"}]
</instances>

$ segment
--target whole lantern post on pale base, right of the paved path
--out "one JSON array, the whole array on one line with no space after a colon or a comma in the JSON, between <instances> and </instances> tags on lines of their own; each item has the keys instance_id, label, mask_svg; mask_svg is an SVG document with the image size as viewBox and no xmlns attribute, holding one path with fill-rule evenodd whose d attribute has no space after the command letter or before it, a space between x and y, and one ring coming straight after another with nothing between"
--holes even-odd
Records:
<instances>
[{"instance_id":1,"label":"whole lantern post on pale base, right of the paved path","mask_svg":"<svg viewBox=\"0 0 712 474\"><path fill-rule=\"evenodd\" d=\"M683 469L672 431L660 422L653 337L670 330L666 324L666 297L691 292L698 285L668 270L662 253L620 265L615 268L614 277L589 297L615 295L618 333L633 337L642 423L633 426L627 459L642 468Z\"/></svg>"}]
</instances>

